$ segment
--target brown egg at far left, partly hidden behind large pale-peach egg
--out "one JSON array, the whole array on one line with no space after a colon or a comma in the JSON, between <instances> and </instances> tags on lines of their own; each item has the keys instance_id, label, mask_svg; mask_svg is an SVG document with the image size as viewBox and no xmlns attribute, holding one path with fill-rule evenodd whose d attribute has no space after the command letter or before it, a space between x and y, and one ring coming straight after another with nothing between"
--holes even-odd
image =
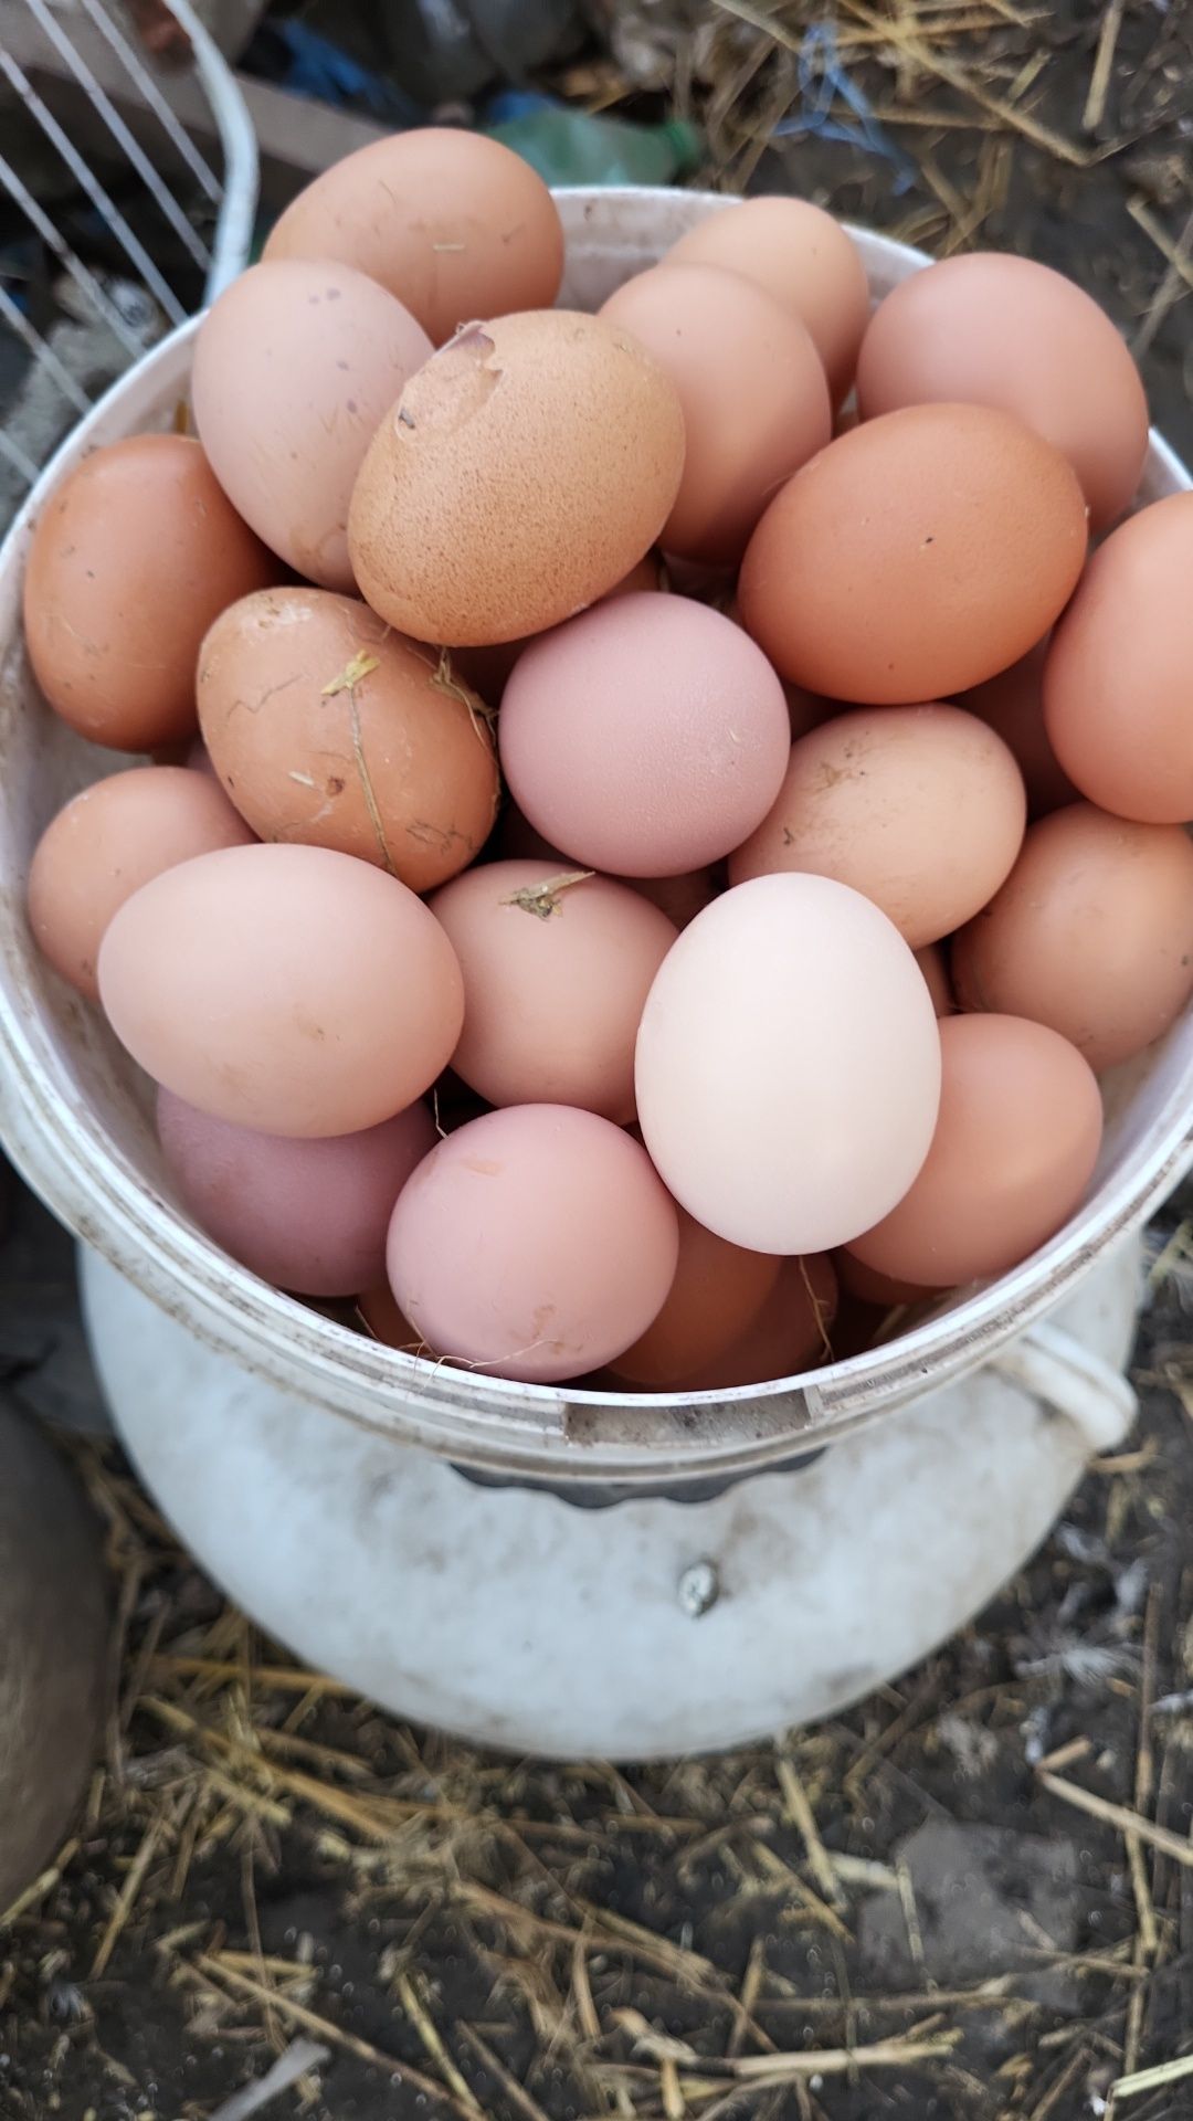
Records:
<instances>
[{"instance_id":1,"label":"brown egg at far left, partly hidden behind large pale-peach egg","mask_svg":"<svg viewBox=\"0 0 1193 2121\"><path fill-rule=\"evenodd\" d=\"M223 789L185 766L108 774L57 812L30 863L30 927L42 957L89 1001L108 923L151 876L248 846L253 834Z\"/></svg>"}]
</instances>

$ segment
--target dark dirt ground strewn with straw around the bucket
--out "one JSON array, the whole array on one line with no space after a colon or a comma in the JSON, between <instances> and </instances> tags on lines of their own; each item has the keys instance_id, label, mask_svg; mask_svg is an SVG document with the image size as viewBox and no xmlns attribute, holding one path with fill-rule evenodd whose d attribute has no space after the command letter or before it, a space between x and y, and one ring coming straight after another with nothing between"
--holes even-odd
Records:
<instances>
[{"instance_id":1,"label":"dark dirt ground strewn with straw around the bucket","mask_svg":"<svg viewBox=\"0 0 1193 2121\"><path fill-rule=\"evenodd\" d=\"M832 98L824 40L802 81L790 49L813 8L613 15L571 93L698 115L726 185L1061 265L1193 456L1187 0L838 6ZM851 1714L671 1769L509 1763L295 1669L72 1440L119 1697L59 1864L0 1913L2 2121L1191 2117L1193 1190L1151 1262L1140 1427L1032 1567ZM0 1283L4 1391L79 1413L32 1209Z\"/></svg>"}]
</instances>

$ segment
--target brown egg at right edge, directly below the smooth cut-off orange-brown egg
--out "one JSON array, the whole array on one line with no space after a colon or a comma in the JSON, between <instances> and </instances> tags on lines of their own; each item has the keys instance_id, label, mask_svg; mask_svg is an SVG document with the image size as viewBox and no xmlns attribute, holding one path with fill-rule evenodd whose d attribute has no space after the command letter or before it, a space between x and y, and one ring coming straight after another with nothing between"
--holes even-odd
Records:
<instances>
[{"instance_id":1,"label":"brown egg at right edge, directly below the smooth cut-off orange-brown egg","mask_svg":"<svg viewBox=\"0 0 1193 2121\"><path fill-rule=\"evenodd\" d=\"M1193 995L1193 840L1093 804L1032 825L998 897L953 942L964 1010L1051 1024L1097 1073Z\"/></svg>"}]
</instances>

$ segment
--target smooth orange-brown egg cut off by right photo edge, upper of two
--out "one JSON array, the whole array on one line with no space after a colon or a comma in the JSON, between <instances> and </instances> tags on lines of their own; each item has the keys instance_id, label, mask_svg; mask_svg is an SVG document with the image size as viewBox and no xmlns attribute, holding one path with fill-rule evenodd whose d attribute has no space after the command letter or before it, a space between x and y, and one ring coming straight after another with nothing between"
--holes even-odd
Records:
<instances>
[{"instance_id":1,"label":"smooth orange-brown egg cut off by right photo edge, upper of two","mask_svg":"<svg viewBox=\"0 0 1193 2121\"><path fill-rule=\"evenodd\" d=\"M1093 554L1044 664L1044 725L1076 789L1140 825L1193 817L1193 492Z\"/></svg>"}]
</instances>

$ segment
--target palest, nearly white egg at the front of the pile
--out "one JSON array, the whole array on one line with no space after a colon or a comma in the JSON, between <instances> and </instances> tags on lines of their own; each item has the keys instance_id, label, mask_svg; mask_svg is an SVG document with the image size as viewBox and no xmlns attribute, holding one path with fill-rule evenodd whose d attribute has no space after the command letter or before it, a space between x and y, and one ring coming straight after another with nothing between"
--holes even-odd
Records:
<instances>
[{"instance_id":1,"label":"palest, nearly white egg at the front of the pile","mask_svg":"<svg viewBox=\"0 0 1193 2121\"><path fill-rule=\"evenodd\" d=\"M913 1184L938 1097L923 976L887 916L832 878L726 891L647 995L643 1139L679 1205L730 1245L860 1237Z\"/></svg>"}]
</instances>

